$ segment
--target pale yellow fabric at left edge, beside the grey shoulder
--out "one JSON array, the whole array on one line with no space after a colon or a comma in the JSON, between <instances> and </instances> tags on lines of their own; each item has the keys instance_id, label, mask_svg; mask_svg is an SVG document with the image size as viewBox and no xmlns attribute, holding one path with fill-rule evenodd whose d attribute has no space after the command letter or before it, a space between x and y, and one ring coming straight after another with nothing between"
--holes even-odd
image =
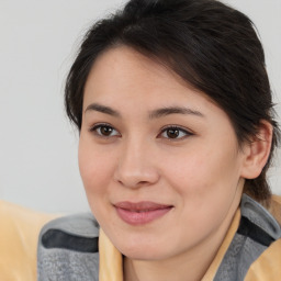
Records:
<instances>
[{"instance_id":1,"label":"pale yellow fabric at left edge, beside the grey shoulder","mask_svg":"<svg viewBox=\"0 0 281 281\"><path fill-rule=\"evenodd\" d=\"M38 234L54 218L0 201L0 280L35 281Z\"/></svg>"}]
</instances>

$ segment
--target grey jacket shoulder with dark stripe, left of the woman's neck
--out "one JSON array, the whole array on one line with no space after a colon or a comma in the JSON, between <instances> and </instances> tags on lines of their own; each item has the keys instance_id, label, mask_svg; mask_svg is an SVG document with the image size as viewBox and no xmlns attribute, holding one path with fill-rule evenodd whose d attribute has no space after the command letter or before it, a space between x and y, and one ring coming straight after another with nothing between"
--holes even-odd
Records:
<instances>
[{"instance_id":1,"label":"grey jacket shoulder with dark stripe, left of the woman's neck","mask_svg":"<svg viewBox=\"0 0 281 281\"><path fill-rule=\"evenodd\" d=\"M99 224L88 213L50 221L41 231L38 281L98 280Z\"/></svg>"}]
</instances>

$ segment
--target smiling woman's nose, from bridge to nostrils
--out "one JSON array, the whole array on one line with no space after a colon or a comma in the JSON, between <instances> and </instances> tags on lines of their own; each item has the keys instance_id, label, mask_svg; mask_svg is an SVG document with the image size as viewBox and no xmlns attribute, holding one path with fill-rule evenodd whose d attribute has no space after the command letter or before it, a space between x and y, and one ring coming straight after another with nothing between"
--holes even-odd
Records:
<instances>
[{"instance_id":1,"label":"smiling woman's nose, from bridge to nostrils","mask_svg":"<svg viewBox=\"0 0 281 281\"><path fill-rule=\"evenodd\" d=\"M120 154L114 171L115 181L126 188L138 189L159 180L151 148L145 142L127 142Z\"/></svg>"}]
</instances>

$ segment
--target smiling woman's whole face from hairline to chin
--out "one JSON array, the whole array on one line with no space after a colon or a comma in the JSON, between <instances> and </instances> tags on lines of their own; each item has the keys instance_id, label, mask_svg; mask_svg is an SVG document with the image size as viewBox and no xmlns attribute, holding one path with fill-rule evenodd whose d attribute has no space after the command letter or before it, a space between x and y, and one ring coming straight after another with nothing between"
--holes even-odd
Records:
<instances>
[{"instance_id":1,"label":"smiling woman's whole face from hairline to chin","mask_svg":"<svg viewBox=\"0 0 281 281\"><path fill-rule=\"evenodd\" d=\"M79 167L115 247L161 260L221 241L245 156L217 105L128 47L105 52L85 88Z\"/></svg>"}]
</instances>

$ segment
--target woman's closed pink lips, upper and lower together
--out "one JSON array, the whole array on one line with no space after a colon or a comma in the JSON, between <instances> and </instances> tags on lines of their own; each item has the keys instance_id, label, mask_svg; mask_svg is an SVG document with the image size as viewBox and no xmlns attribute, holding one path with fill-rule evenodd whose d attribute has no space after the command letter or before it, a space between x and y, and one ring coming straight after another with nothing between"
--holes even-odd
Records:
<instances>
[{"instance_id":1,"label":"woman's closed pink lips, upper and lower together","mask_svg":"<svg viewBox=\"0 0 281 281\"><path fill-rule=\"evenodd\" d=\"M148 224L166 215L172 205L158 204L155 202L119 202L114 204L119 216L127 224Z\"/></svg>"}]
</instances>

